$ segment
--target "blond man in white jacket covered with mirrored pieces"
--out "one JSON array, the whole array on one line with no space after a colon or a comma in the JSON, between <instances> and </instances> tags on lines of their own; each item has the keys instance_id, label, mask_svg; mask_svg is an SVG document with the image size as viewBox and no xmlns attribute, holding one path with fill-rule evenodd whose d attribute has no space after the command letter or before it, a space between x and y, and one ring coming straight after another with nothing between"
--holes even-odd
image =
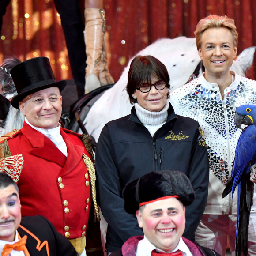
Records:
<instances>
[{"instance_id":1,"label":"blond man in white jacket covered with mirrored pieces","mask_svg":"<svg viewBox=\"0 0 256 256\"><path fill-rule=\"evenodd\" d=\"M207 205L196 230L196 241L225 255L227 240L235 249L237 192L222 199L231 176L241 130L234 124L239 105L256 104L256 82L230 71L237 55L237 30L233 19L210 15L195 31L198 54L205 72L170 95L175 112L197 120L203 129L210 164ZM256 208L251 220L256 218ZM256 255L256 231L249 225L249 255Z\"/></svg>"}]
</instances>

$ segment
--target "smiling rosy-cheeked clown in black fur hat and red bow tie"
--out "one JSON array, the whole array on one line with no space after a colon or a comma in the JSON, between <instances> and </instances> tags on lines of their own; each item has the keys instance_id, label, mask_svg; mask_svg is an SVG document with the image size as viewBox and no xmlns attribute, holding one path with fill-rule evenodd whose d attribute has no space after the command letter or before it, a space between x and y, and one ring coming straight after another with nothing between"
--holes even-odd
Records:
<instances>
[{"instance_id":1,"label":"smiling rosy-cheeked clown in black fur hat and red bow tie","mask_svg":"<svg viewBox=\"0 0 256 256\"><path fill-rule=\"evenodd\" d=\"M177 171L157 171L129 182L124 189L124 209L136 214L144 236L129 238L110 256L219 256L192 242L185 230L185 207L195 192L188 177Z\"/></svg>"}]
</instances>

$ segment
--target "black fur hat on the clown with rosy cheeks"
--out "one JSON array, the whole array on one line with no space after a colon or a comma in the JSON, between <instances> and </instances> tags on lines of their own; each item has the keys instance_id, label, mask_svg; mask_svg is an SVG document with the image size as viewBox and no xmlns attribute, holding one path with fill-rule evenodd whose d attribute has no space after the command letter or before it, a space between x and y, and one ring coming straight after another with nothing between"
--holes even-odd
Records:
<instances>
[{"instance_id":1,"label":"black fur hat on the clown with rosy cheeks","mask_svg":"<svg viewBox=\"0 0 256 256\"><path fill-rule=\"evenodd\" d=\"M165 196L178 196L184 206L195 200L195 192L186 174L177 171L156 171L130 181L124 188L124 210L135 214L139 204Z\"/></svg>"}]
</instances>

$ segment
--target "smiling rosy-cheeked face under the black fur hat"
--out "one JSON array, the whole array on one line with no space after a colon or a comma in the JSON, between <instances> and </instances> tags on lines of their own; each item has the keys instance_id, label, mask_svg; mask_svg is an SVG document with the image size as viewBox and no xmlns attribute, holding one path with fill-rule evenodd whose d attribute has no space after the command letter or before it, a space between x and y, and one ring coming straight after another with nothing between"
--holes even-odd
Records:
<instances>
[{"instance_id":1,"label":"smiling rosy-cheeked face under the black fur hat","mask_svg":"<svg viewBox=\"0 0 256 256\"><path fill-rule=\"evenodd\" d=\"M156 248L171 252L185 230L185 207L176 198L158 200L136 211L139 227Z\"/></svg>"}]
</instances>

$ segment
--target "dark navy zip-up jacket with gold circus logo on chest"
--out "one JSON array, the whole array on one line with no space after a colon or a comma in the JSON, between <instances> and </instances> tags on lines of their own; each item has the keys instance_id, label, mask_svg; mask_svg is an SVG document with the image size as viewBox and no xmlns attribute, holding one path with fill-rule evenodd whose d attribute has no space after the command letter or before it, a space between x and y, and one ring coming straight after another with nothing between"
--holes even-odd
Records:
<instances>
[{"instance_id":1,"label":"dark navy zip-up jacket with gold circus logo on chest","mask_svg":"<svg viewBox=\"0 0 256 256\"><path fill-rule=\"evenodd\" d=\"M135 215L124 211L125 185L153 170L186 173L196 199L186 207L183 236L194 239L207 201L209 165L197 121L178 116L169 105L166 124L153 138L132 108L130 116L110 121L102 129L95 154L98 203L108 222L106 249L115 252L132 236L142 235Z\"/></svg>"}]
</instances>

